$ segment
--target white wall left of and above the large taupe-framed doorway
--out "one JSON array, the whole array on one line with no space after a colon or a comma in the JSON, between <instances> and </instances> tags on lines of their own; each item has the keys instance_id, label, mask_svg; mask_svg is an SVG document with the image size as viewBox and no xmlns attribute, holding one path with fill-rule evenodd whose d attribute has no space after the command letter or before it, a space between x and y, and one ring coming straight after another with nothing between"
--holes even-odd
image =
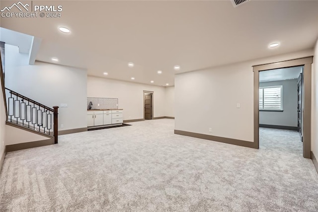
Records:
<instances>
[{"instance_id":1,"label":"white wall left of and above the large taupe-framed doorway","mask_svg":"<svg viewBox=\"0 0 318 212\"><path fill-rule=\"evenodd\" d=\"M252 66L311 55L312 49L177 74L175 129L252 142Z\"/></svg>"}]
</instances>

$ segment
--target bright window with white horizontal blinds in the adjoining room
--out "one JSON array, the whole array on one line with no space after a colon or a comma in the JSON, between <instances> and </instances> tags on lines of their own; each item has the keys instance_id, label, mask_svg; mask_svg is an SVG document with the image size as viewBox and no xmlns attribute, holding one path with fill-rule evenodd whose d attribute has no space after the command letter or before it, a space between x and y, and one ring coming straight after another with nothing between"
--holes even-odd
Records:
<instances>
[{"instance_id":1,"label":"bright window with white horizontal blinds in the adjoining room","mask_svg":"<svg viewBox=\"0 0 318 212\"><path fill-rule=\"evenodd\" d=\"M283 86L259 88L259 110L283 110Z\"/></svg>"}]
</instances>

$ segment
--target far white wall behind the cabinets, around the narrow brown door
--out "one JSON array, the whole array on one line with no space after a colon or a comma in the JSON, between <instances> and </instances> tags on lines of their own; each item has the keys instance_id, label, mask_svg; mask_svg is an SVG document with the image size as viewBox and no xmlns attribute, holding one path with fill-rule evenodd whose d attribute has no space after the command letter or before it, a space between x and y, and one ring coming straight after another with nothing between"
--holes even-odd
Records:
<instances>
[{"instance_id":1,"label":"far white wall behind the cabinets, around the narrow brown door","mask_svg":"<svg viewBox=\"0 0 318 212\"><path fill-rule=\"evenodd\" d=\"M144 91L153 91L154 117L165 116L165 88L106 78L87 77L87 97L118 98L124 120L144 118Z\"/></svg>"}]
</instances>

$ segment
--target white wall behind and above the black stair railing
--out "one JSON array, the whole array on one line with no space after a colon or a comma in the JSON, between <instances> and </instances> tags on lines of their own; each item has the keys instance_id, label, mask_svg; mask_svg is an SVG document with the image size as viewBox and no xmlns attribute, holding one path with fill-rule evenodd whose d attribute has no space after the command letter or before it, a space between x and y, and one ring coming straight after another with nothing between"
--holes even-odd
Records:
<instances>
[{"instance_id":1,"label":"white wall behind and above the black stair railing","mask_svg":"<svg viewBox=\"0 0 318 212\"><path fill-rule=\"evenodd\" d=\"M5 87L46 106L59 108L59 130L87 127L86 71L36 61L16 46L5 45ZM64 124L64 128L61 128Z\"/></svg>"}]
</instances>

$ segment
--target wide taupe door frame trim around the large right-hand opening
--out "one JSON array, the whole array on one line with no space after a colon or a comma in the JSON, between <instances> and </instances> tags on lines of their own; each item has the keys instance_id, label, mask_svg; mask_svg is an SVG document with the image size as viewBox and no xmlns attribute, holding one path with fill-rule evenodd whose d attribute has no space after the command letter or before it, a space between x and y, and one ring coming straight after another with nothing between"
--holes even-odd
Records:
<instances>
[{"instance_id":1,"label":"wide taupe door frame trim around the large right-hand opening","mask_svg":"<svg viewBox=\"0 0 318 212\"><path fill-rule=\"evenodd\" d=\"M313 56L253 66L254 72L254 142L253 148L259 148L259 72L303 66L303 90L302 90L302 137L303 156L311 158L311 95L312 95L312 63Z\"/></svg>"}]
</instances>

